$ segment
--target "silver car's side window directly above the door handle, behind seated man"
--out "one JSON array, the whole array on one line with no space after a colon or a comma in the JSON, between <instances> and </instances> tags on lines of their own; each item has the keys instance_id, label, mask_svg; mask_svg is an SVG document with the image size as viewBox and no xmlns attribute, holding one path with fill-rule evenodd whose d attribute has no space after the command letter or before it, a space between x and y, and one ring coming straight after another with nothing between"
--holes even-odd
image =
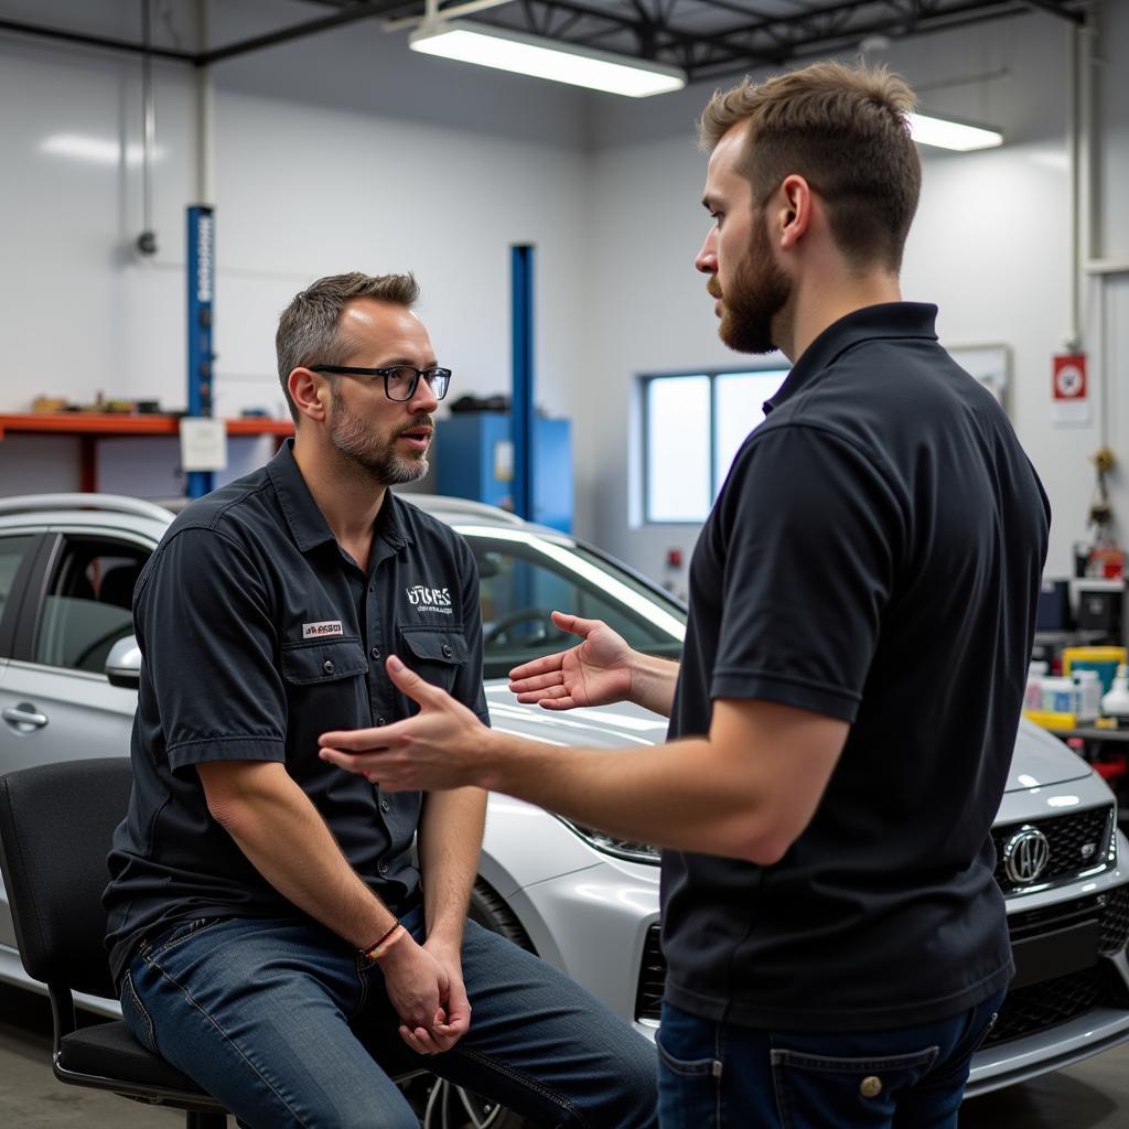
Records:
<instances>
[{"instance_id":1,"label":"silver car's side window directly above the door handle, behind seated man","mask_svg":"<svg viewBox=\"0 0 1129 1129\"><path fill-rule=\"evenodd\" d=\"M35 662L100 674L113 645L133 632L133 586L147 555L126 544L64 542L36 632Z\"/></svg>"}]
</instances>

